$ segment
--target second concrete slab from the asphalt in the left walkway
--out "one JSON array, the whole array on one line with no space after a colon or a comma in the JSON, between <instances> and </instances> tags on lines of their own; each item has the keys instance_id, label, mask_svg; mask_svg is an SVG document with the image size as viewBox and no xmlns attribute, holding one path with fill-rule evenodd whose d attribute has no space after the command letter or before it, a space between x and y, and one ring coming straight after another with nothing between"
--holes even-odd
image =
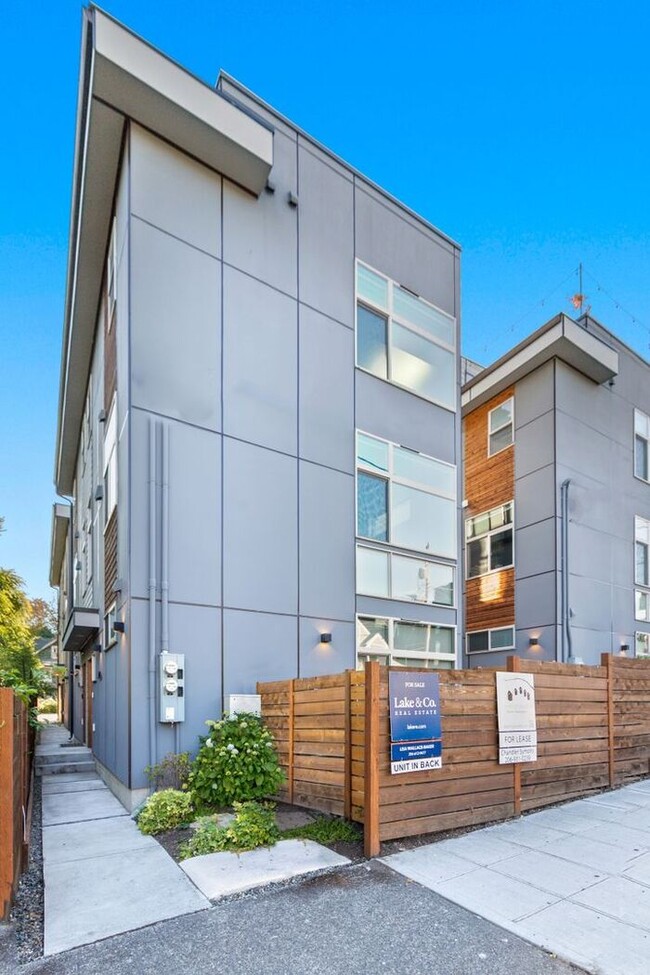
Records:
<instances>
[{"instance_id":1,"label":"second concrete slab from the asphalt in the left walkway","mask_svg":"<svg viewBox=\"0 0 650 975\"><path fill-rule=\"evenodd\" d=\"M65 823L43 830L43 857L48 865L114 854L128 857L132 850L153 848L160 849L157 841L143 836L129 816Z\"/></svg>"}]
</instances>

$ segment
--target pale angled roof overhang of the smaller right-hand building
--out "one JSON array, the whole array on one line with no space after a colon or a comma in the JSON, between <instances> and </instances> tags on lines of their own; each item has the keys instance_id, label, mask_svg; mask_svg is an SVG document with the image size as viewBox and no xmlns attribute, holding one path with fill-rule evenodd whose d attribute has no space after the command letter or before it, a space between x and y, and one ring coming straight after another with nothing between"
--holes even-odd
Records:
<instances>
[{"instance_id":1,"label":"pale angled roof overhang of the smaller right-hand building","mask_svg":"<svg viewBox=\"0 0 650 975\"><path fill-rule=\"evenodd\" d=\"M568 315L560 314L463 386L463 414L555 358L599 385L618 374L618 352Z\"/></svg>"}]
</instances>

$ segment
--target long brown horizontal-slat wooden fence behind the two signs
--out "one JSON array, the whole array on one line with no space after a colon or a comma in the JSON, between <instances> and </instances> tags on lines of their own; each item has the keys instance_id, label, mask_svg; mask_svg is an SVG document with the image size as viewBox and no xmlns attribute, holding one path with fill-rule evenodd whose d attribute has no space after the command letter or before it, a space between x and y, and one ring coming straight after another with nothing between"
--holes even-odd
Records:
<instances>
[{"instance_id":1,"label":"long brown horizontal-slat wooden fence behind the two signs","mask_svg":"<svg viewBox=\"0 0 650 975\"><path fill-rule=\"evenodd\" d=\"M382 841L508 819L650 774L650 660L511 657L535 675L538 760L499 765L495 670L441 671L443 767L392 775L389 668L258 684L287 776L280 798Z\"/></svg>"}]
</instances>

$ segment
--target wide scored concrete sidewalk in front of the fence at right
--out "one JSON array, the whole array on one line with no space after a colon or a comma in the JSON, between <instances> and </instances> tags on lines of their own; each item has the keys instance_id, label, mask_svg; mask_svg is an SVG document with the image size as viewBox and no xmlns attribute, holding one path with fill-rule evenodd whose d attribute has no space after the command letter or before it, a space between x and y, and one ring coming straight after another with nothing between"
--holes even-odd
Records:
<instances>
[{"instance_id":1,"label":"wide scored concrete sidewalk in front of the fence at right","mask_svg":"<svg viewBox=\"0 0 650 975\"><path fill-rule=\"evenodd\" d=\"M647 975L650 781L383 860L598 975Z\"/></svg>"}]
</instances>

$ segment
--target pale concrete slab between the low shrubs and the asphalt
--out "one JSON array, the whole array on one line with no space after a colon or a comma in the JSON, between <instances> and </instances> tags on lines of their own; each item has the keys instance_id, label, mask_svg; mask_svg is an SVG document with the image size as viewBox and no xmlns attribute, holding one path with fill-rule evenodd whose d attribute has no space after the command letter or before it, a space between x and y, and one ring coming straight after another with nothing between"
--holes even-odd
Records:
<instances>
[{"instance_id":1,"label":"pale concrete slab between the low shrubs and the asphalt","mask_svg":"<svg viewBox=\"0 0 650 975\"><path fill-rule=\"evenodd\" d=\"M281 840L272 847L246 853L209 853L181 863L199 890L216 900L315 870L343 866L350 861L312 840Z\"/></svg>"}]
</instances>

